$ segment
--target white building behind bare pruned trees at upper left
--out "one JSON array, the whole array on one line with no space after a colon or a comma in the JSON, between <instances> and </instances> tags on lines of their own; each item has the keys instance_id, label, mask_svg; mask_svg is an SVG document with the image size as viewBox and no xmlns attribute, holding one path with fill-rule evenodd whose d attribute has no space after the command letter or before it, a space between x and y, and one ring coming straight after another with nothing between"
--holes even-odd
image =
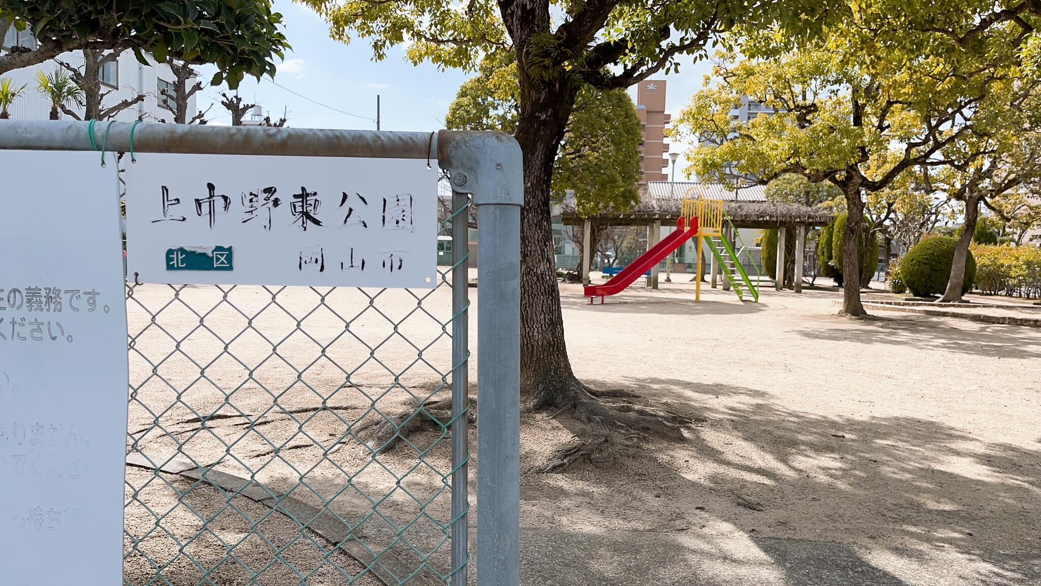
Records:
<instances>
[{"instance_id":1,"label":"white building behind bare pruned trees at upper left","mask_svg":"<svg viewBox=\"0 0 1041 586\"><path fill-rule=\"evenodd\" d=\"M7 52L11 47L35 47L35 40L30 31L19 31L14 26L9 27L0 43L0 53ZM174 114L169 106L167 98L161 97L160 91L164 88L172 94L175 78L167 64L158 64L152 55L145 54L149 66L137 62L133 51L126 50L112 63L106 64L101 71L102 92L110 93L102 100L102 109L118 104L123 100L132 100L138 95L145 95L145 99L130 107L120 112L112 119L120 121L145 120L155 122L166 120L173 122ZM82 68L83 54L80 51L62 53L57 57L72 67ZM44 71L50 74L54 71L67 71L55 60L48 60L31 67L16 69L0 75L9 77L16 88L25 86L25 92L15 100L15 103L7 108L11 119L16 120L47 120L51 114L50 100L36 91L36 72ZM188 100L187 119L191 120L196 114L196 96ZM75 104L69 105L69 109L75 112L82 118L83 108ZM65 119L67 116L61 115Z\"/></svg>"}]
</instances>

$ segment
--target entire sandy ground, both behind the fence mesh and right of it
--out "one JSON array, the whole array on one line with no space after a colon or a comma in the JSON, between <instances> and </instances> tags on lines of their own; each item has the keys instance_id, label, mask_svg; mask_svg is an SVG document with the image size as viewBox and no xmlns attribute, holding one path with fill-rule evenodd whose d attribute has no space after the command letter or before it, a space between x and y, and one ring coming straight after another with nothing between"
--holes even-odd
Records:
<instances>
[{"instance_id":1,"label":"entire sandy ground, both behind the fence mesh and right of it","mask_svg":"<svg viewBox=\"0 0 1041 586\"><path fill-rule=\"evenodd\" d=\"M524 584L1041 584L1041 329L884 312L849 320L833 315L827 291L765 291L753 304L705 290L695 303L683 280L604 306L562 286L576 373L695 423L682 442L638 440L611 463L543 474L535 470L549 455L588 430L566 414L526 414ZM172 289L138 288L128 304L130 447L328 504L379 546L401 530L408 543L386 546L434 552L431 567L447 570L448 434L422 431L374 460L358 441L367 431L353 430L410 394L446 396L450 294L442 287L421 308L404 291L373 300L337 290L323 302L313 290L238 288L225 299L183 289L200 327ZM471 297L479 311L476 290ZM152 323L142 306L164 309ZM321 539L294 540L294 521L243 497L229 507L197 488L178 500L192 482L167 477L128 472L128 539L147 536L128 555L128 584L168 562L180 568L178 586L221 560L230 569L209 578L222 586L262 568L258 584L296 583L276 573L285 560L300 560L308 584L364 573ZM381 514L366 518L370 498ZM208 508L187 507L196 500ZM224 522L193 542L206 546L180 551L210 518ZM257 518L271 544L250 537ZM242 543L235 559L222 541Z\"/></svg>"}]
</instances>

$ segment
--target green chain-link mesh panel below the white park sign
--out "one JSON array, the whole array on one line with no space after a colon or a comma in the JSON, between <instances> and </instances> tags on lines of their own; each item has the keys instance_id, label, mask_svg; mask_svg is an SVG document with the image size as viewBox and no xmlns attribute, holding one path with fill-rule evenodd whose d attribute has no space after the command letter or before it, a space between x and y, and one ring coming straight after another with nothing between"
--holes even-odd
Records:
<instances>
[{"instance_id":1,"label":"green chain-link mesh panel below the white park sign","mask_svg":"<svg viewBox=\"0 0 1041 586\"><path fill-rule=\"evenodd\" d=\"M465 246L438 272L423 291L130 285L125 584L450 583Z\"/></svg>"}]
</instances>

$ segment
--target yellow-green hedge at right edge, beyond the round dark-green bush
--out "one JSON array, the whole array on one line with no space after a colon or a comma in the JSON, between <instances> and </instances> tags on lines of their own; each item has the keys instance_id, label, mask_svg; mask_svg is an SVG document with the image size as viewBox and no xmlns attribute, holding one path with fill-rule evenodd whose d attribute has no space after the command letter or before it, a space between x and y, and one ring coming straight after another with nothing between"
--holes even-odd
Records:
<instances>
[{"instance_id":1,"label":"yellow-green hedge at right edge, beyond the round dark-green bush","mask_svg":"<svg viewBox=\"0 0 1041 586\"><path fill-rule=\"evenodd\" d=\"M1041 295L1041 248L973 244L976 284L990 295Z\"/></svg>"}]
</instances>

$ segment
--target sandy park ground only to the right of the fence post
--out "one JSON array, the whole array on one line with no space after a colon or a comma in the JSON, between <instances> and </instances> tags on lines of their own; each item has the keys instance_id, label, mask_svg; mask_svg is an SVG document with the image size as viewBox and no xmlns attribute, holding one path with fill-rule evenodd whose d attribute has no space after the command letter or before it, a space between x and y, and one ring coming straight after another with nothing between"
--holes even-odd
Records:
<instances>
[{"instance_id":1,"label":"sandy park ground only to the right of the fence post","mask_svg":"<svg viewBox=\"0 0 1041 586\"><path fill-rule=\"evenodd\" d=\"M916 581L914 564L902 577L908 552L1041 553L1041 329L850 320L833 315L831 292L741 304L703 290L694 303L689 284L663 287L588 306L564 286L568 350L595 388L701 421L686 442L646 442L611 466L527 475L526 526L671 534L678 555L728 537L750 560L763 557L751 538L867 547L893 558L865 563L891 566L900 584L958 583ZM529 419L526 461L573 431L566 418ZM554 497L560 507L547 506ZM1026 583L1000 564L963 566L966 584Z\"/></svg>"}]
</instances>

